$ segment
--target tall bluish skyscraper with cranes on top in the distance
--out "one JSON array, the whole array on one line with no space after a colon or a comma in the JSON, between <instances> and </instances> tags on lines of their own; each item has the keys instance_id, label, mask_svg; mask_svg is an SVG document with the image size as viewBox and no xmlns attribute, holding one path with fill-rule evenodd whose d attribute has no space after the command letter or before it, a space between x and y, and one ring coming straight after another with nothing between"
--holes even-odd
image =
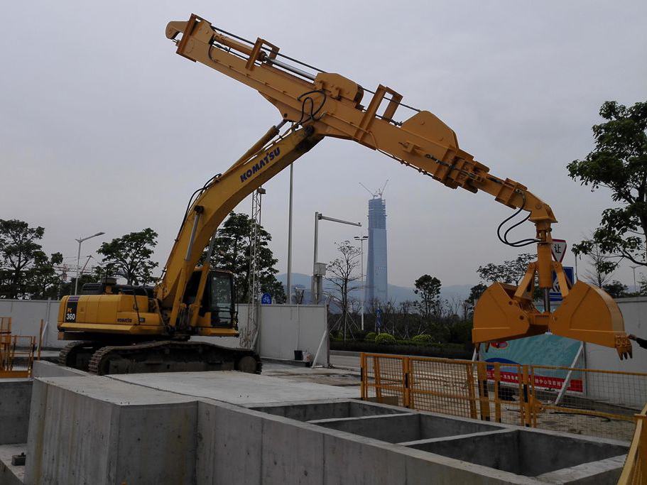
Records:
<instances>
[{"instance_id":1,"label":"tall bluish skyscraper with cranes on top in the distance","mask_svg":"<svg viewBox=\"0 0 647 485\"><path fill-rule=\"evenodd\" d=\"M386 185L386 184L385 184ZM384 190L384 187L382 187ZM369 200L369 255L366 264L366 305L388 300L386 278L386 200L382 190Z\"/></svg>"}]
</instances>

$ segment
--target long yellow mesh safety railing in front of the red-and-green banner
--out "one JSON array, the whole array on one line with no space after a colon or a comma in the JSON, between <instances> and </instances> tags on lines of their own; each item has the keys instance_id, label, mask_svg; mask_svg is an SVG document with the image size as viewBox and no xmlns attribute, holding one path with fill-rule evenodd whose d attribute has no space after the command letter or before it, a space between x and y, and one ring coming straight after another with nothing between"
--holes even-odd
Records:
<instances>
[{"instance_id":1,"label":"long yellow mesh safety railing in front of the red-and-green banner","mask_svg":"<svg viewBox=\"0 0 647 485\"><path fill-rule=\"evenodd\" d=\"M361 354L361 397L629 441L636 410L647 402L647 374Z\"/></svg>"}]
</instances>

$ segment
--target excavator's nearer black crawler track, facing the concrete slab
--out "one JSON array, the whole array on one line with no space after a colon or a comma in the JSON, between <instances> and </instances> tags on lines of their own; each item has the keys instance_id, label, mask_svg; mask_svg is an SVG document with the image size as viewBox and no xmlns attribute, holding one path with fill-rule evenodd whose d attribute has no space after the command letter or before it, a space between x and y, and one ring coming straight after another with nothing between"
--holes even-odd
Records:
<instances>
[{"instance_id":1,"label":"excavator's nearer black crawler track, facing the concrete slab","mask_svg":"<svg viewBox=\"0 0 647 485\"><path fill-rule=\"evenodd\" d=\"M89 360L88 371L106 374L147 372L243 371L261 374L261 359L248 349L219 347L206 342L160 341L106 346Z\"/></svg>"}]
</instances>

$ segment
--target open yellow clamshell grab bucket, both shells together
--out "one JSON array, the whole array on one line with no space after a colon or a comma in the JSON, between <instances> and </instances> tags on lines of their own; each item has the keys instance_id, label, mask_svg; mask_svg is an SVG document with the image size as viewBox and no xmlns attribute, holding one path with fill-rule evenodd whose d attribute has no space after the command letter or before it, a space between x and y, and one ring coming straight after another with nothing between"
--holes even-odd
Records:
<instances>
[{"instance_id":1,"label":"open yellow clamshell grab bucket, both shells together","mask_svg":"<svg viewBox=\"0 0 647 485\"><path fill-rule=\"evenodd\" d=\"M631 342L616 302L604 290L578 281L555 312L540 312L529 296L515 296L513 285L494 283L474 309L474 344L543 334L613 347L621 359L631 356Z\"/></svg>"}]
</instances>

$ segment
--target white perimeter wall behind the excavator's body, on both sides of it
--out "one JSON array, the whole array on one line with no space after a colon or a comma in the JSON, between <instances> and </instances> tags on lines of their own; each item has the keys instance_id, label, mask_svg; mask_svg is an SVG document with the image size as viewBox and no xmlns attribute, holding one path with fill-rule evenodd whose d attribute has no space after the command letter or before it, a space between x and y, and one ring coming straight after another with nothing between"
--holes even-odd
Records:
<instances>
[{"instance_id":1,"label":"white perimeter wall behind the excavator's body, on both sides of it","mask_svg":"<svg viewBox=\"0 0 647 485\"><path fill-rule=\"evenodd\" d=\"M38 336L40 319L48 322L43 335L43 347L63 347L58 340L56 322L58 300L0 300L0 317L11 317L11 329L16 335ZM248 305L239 305L239 327L246 328ZM295 350L308 351L314 357L326 328L326 308L323 305L261 305L259 354L271 359L293 359ZM227 347L240 347L234 337L195 337ZM317 364L326 357L325 342Z\"/></svg>"}]
</instances>

